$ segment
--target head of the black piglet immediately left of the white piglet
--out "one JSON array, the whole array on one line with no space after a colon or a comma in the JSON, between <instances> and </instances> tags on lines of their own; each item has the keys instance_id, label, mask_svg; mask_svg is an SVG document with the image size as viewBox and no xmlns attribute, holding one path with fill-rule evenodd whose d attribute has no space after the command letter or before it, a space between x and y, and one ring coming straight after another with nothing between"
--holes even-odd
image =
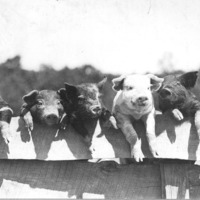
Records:
<instances>
[{"instance_id":1,"label":"head of the black piglet immediately left of the white piglet","mask_svg":"<svg viewBox=\"0 0 200 200\"><path fill-rule=\"evenodd\" d=\"M78 86L65 83L65 88L58 91L65 112L82 119L99 117L102 111L100 96L106 81L107 78L104 78L97 84L83 83Z\"/></svg>"}]
</instances>

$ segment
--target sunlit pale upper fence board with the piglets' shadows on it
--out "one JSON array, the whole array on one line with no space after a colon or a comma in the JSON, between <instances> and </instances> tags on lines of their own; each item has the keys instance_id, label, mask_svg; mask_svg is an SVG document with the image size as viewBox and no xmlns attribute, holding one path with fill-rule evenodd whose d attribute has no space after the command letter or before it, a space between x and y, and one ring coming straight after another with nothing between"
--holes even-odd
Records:
<instances>
[{"instance_id":1,"label":"sunlit pale upper fence board with the piglets' shadows on it","mask_svg":"<svg viewBox=\"0 0 200 200\"><path fill-rule=\"evenodd\" d=\"M142 150L151 158L145 128L141 122L134 124L142 139ZM156 115L157 149L161 158L200 160L198 136L193 119L177 122L169 114ZM38 128L32 133L24 129L20 118L11 121L11 141L7 145L0 140L0 158L75 160L91 158L130 158L130 147L120 130L101 129L98 125L92 151L83 138L71 126L57 132L52 128Z\"/></svg>"}]
</instances>

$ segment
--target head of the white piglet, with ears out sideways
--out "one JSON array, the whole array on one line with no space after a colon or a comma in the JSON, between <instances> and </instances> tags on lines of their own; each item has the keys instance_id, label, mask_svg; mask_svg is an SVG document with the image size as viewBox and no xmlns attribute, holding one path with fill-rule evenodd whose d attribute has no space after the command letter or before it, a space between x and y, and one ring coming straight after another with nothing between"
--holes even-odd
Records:
<instances>
[{"instance_id":1,"label":"head of the white piglet, with ears out sideways","mask_svg":"<svg viewBox=\"0 0 200 200\"><path fill-rule=\"evenodd\" d=\"M145 112L153 105L152 91L158 90L162 81L153 74L132 74L113 79L113 89L121 90L122 101L128 109Z\"/></svg>"}]
</instances>

